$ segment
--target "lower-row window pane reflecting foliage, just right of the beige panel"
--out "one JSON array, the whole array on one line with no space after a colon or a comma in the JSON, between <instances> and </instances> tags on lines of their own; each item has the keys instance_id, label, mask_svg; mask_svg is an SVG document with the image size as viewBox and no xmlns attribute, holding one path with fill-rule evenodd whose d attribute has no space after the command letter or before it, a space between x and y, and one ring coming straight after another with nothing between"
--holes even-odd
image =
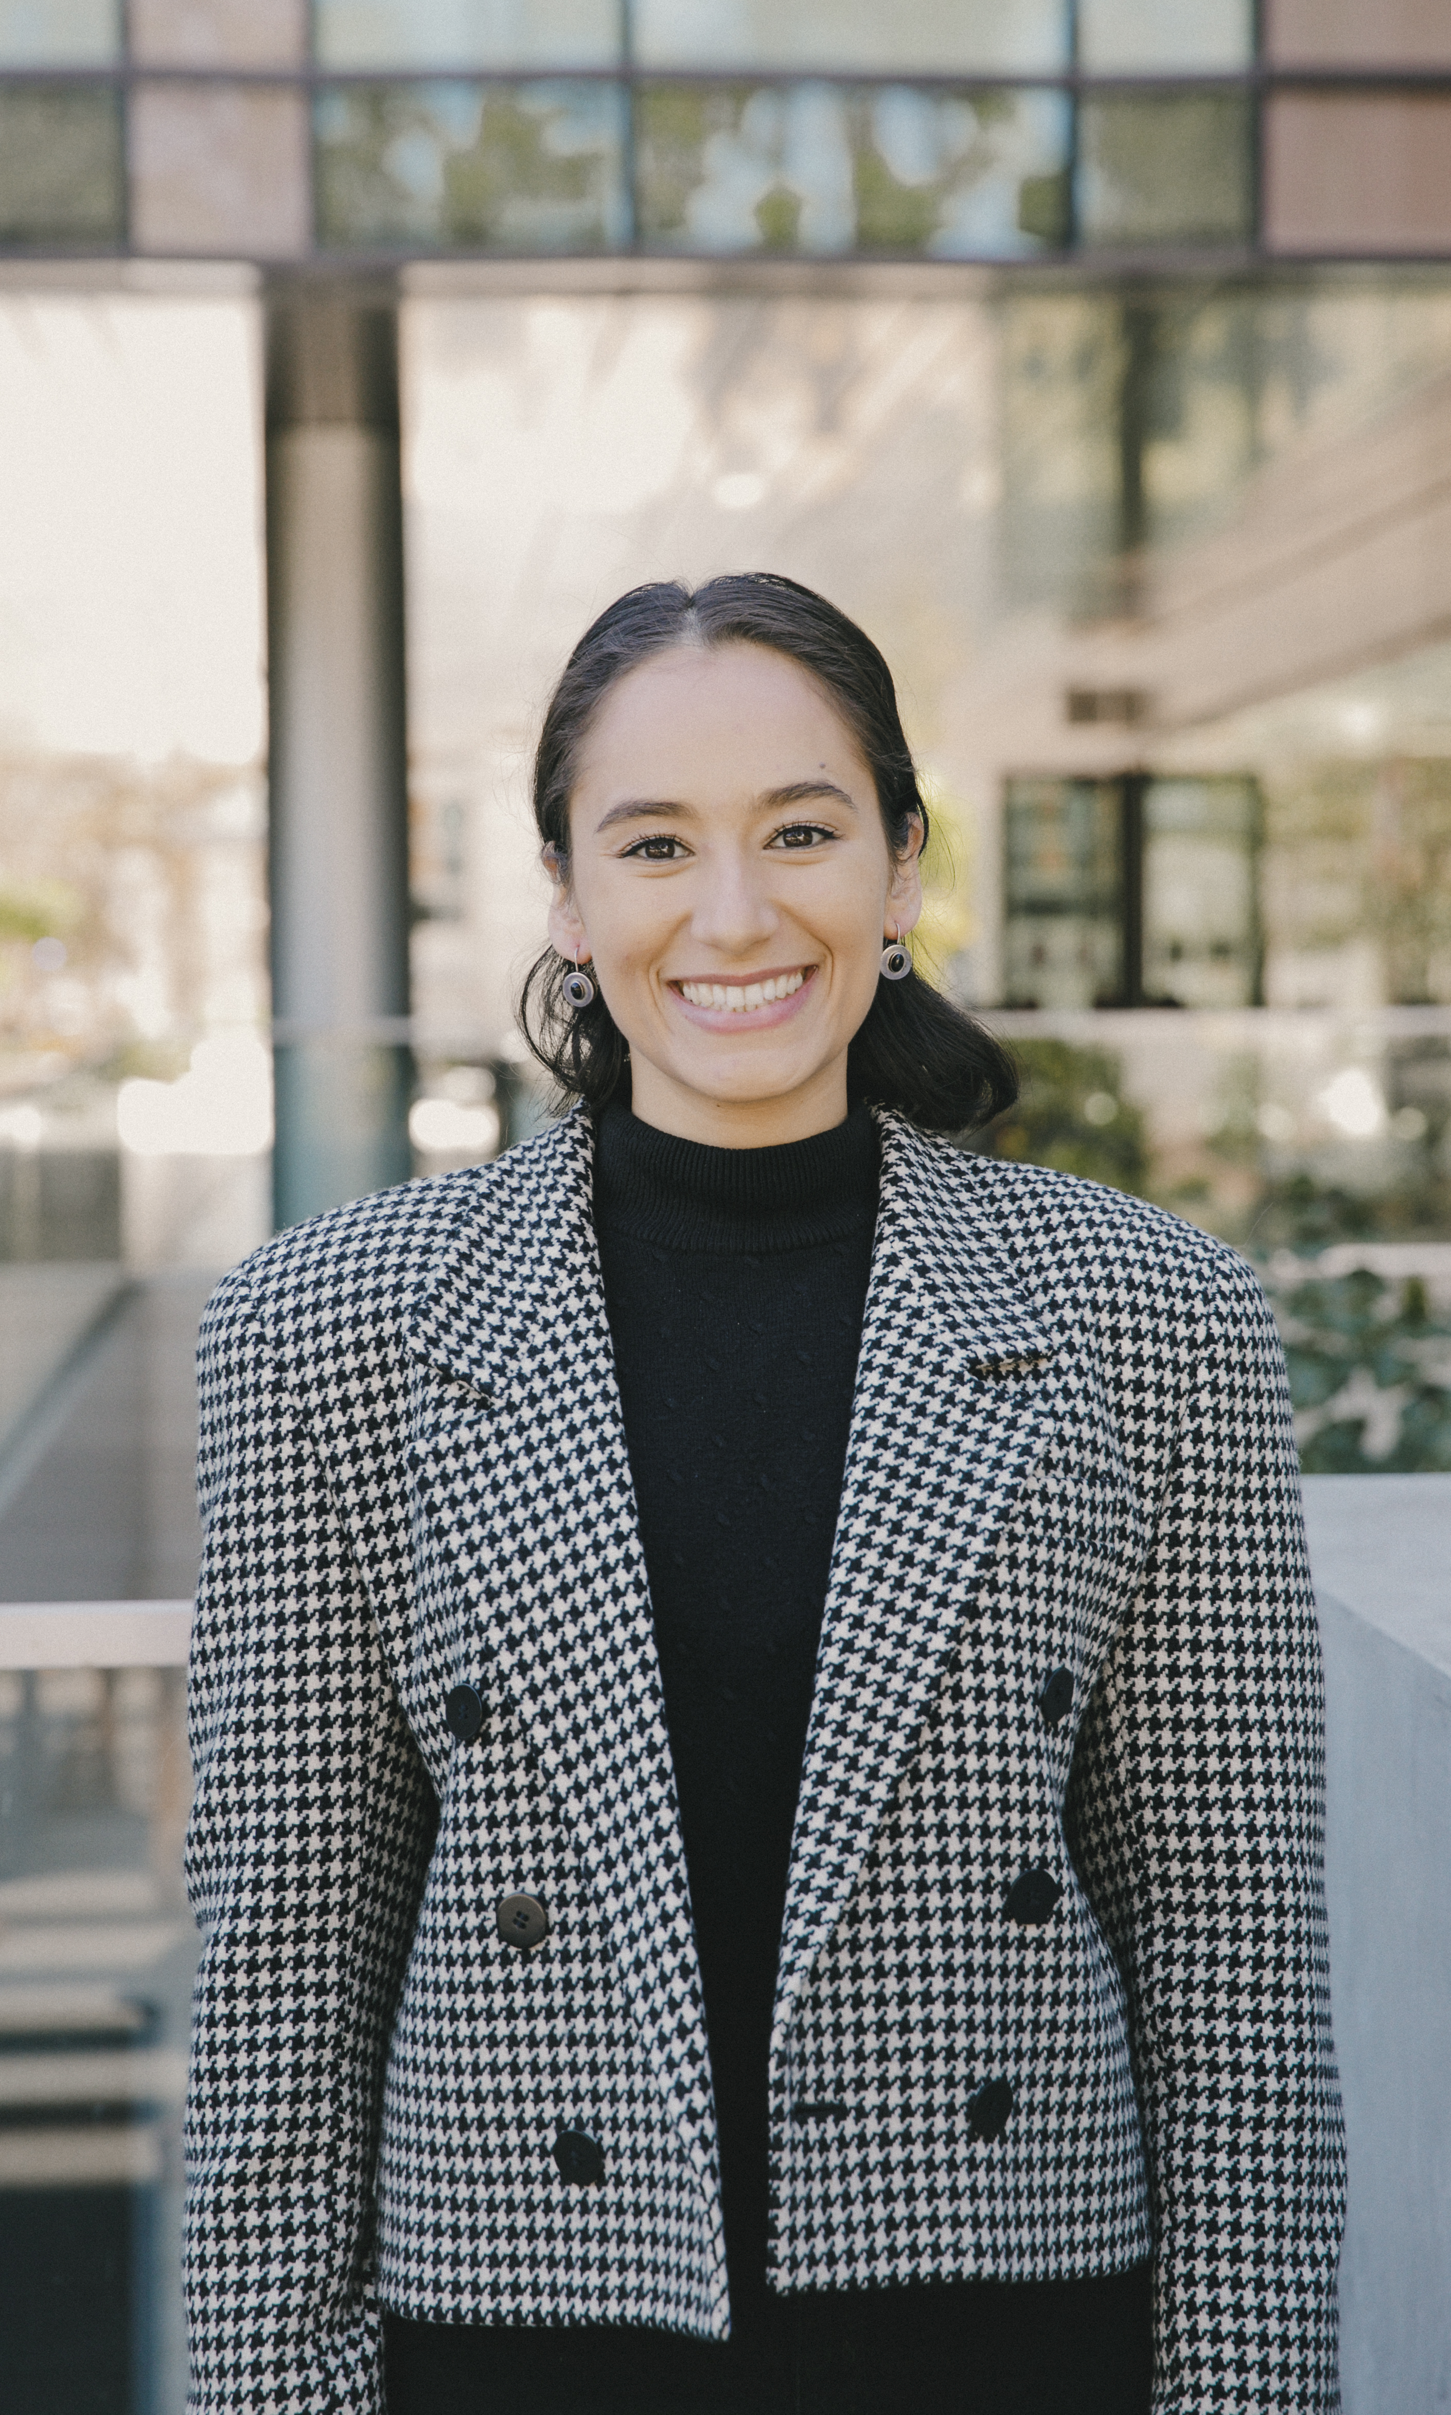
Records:
<instances>
[{"instance_id":1,"label":"lower-row window pane reflecting foliage, just right of the beige panel","mask_svg":"<svg viewBox=\"0 0 1451 2415\"><path fill-rule=\"evenodd\" d=\"M628 237L616 85L372 85L316 104L319 239L606 251Z\"/></svg>"}]
</instances>

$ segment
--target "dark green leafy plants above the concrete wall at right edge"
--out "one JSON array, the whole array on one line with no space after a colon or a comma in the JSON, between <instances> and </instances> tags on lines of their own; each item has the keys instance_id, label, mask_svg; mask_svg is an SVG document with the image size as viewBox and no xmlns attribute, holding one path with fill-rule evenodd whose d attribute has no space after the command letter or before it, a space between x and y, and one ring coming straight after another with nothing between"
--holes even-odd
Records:
<instances>
[{"instance_id":1,"label":"dark green leafy plants above the concrete wall at right edge","mask_svg":"<svg viewBox=\"0 0 1451 2415\"><path fill-rule=\"evenodd\" d=\"M1451 1319L1369 1268L1272 1287L1306 1476L1451 1468Z\"/></svg>"}]
</instances>

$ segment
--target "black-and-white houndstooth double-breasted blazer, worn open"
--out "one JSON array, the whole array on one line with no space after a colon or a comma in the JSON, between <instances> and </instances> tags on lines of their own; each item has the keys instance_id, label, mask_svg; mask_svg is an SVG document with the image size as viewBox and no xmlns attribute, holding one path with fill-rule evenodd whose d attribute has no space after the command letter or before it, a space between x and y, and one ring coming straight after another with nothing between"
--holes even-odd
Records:
<instances>
[{"instance_id":1,"label":"black-and-white houndstooth double-breasted blazer, worn open","mask_svg":"<svg viewBox=\"0 0 1451 2415\"><path fill-rule=\"evenodd\" d=\"M1270 1316L1142 1200L881 1133L770 2277L1152 2248L1156 2415L1333 2408L1321 1666ZM205 2415L381 2408L384 2306L729 2328L589 1179L575 1113L285 1232L208 1311ZM548 1908L529 1954L495 1927L512 1891ZM601 2183L563 2178L560 2130Z\"/></svg>"}]
</instances>

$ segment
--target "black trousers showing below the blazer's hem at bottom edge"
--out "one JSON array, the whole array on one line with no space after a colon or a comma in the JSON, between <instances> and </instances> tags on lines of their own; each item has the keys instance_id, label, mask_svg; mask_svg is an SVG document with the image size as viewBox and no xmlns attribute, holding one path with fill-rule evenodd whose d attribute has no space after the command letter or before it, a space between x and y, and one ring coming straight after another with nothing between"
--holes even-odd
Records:
<instances>
[{"instance_id":1,"label":"black trousers showing below the blazer's hem at bottom edge","mask_svg":"<svg viewBox=\"0 0 1451 2415\"><path fill-rule=\"evenodd\" d=\"M768 2299L727 2343L384 2318L389 2415L1149 2415L1149 2265Z\"/></svg>"}]
</instances>

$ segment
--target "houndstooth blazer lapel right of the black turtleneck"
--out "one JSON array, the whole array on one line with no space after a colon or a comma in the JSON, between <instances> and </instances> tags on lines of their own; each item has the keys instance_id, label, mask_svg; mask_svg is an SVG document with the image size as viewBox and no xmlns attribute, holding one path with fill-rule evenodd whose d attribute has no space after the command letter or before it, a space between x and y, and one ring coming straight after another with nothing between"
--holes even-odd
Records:
<instances>
[{"instance_id":1,"label":"houndstooth blazer lapel right of the black turtleneck","mask_svg":"<svg viewBox=\"0 0 1451 2415\"><path fill-rule=\"evenodd\" d=\"M973 1215L971 1159L881 1118L881 1208L773 2053L872 1850L1012 1502L1041 1459L1057 1340Z\"/></svg>"}]
</instances>

